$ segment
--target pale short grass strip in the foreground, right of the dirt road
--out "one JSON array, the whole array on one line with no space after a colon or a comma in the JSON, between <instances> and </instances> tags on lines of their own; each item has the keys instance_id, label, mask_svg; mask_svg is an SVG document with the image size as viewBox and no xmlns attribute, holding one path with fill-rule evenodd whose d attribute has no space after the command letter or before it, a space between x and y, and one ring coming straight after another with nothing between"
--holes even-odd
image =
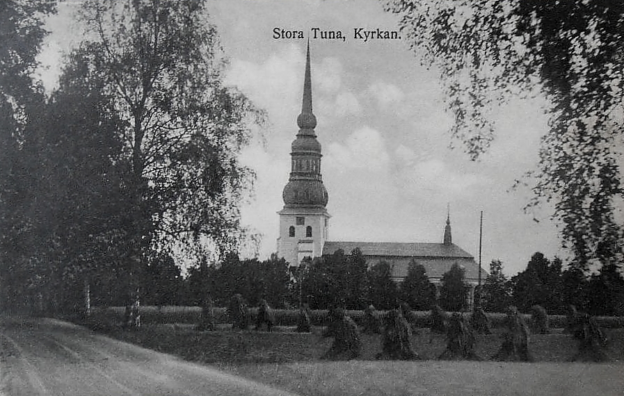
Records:
<instances>
[{"instance_id":1,"label":"pale short grass strip in the foreground, right of the dirt road","mask_svg":"<svg viewBox=\"0 0 624 396\"><path fill-rule=\"evenodd\" d=\"M349 361L246 365L232 372L310 396L622 395L623 366L584 363Z\"/></svg>"}]
</instances>

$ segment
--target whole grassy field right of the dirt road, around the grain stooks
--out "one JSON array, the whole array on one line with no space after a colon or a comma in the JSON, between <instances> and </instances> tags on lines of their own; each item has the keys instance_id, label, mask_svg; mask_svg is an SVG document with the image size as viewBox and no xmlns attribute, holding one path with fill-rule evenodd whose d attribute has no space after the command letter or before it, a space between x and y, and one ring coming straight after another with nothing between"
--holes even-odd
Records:
<instances>
[{"instance_id":1,"label":"whole grassy field right of the dirt road, around the grain stooks","mask_svg":"<svg viewBox=\"0 0 624 396\"><path fill-rule=\"evenodd\" d=\"M179 309L174 314L170 309L167 317L178 320L193 317L195 312ZM284 324L273 333L232 331L223 323L217 331L199 332L191 320L165 323L162 316L150 314L150 320L136 331L102 330L114 338L215 365L301 395L622 395L624 389L624 329L605 331L609 363L569 363L577 341L561 329L549 335L531 335L535 363L438 361L445 338L436 336L429 343L430 333L424 328L417 329L412 339L420 361L375 361L381 336L364 335L358 361L323 362L319 356L332 340L321 337L319 325L312 333L303 334ZM322 319L323 313L317 317ZM493 335L477 336L477 354L484 359L493 356L501 345L500 334L497 329Z\"/></svg>"}]
</instances>

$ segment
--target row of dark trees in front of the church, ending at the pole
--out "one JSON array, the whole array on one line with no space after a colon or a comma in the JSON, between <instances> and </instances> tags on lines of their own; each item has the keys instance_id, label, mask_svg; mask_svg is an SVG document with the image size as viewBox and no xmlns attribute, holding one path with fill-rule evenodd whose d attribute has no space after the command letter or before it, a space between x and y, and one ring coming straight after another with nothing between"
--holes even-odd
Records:
<instances>
[{"instance_id":1,"label":"row of dark trees in front of the church, ending at the pole","mask_svg":"<svg viewBox=\"0 0 624 396\"><path fill-rule=\"evenodd\" d=\"M406 280L400 284L392 280L391 270L385 262L367 268L360 250L355 249L351 254L337 251L316 258L299 268L290 267L275 255L259 261L241 260L231 254L220 265L203 261L183 277L171 256L160 256L141 268L138 285L141 302L147 305L200 306L209 296L214 304L227 306L237 294L251 306L265 299L274 308L295 308L305 303L314 309L334 304L348 309L363 309L369 304L390 309L406 302L413 309L425 311L438 304L436 288L422 265L410 265ZM81 284L68 282L65 290L69 293L65 295L67 301L81 308ZM127 304L124 292L125 284L111 281L110 277L94 279L90 285L91 299L97 306ZM461 310L466 308L466 293L463 270L455 266L442 279L439 303L449 311Z\"/></svg>"}]
</instances>

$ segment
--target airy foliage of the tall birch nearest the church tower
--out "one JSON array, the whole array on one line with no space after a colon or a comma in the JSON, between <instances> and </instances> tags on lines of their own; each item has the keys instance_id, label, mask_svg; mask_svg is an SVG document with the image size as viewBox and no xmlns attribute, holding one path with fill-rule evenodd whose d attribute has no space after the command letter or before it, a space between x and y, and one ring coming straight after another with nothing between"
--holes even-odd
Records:
<instances>
[{"instance_id":1,"label":"airy foliage of the tall birch nearest the church tower","mask_svg":"<svg viewBox=\"0 0 624 396\"><path fill-rule=\"evenodd\" d=\"M83 3L78 53L104 81L129 163L127 260L149 249L199 260L241 236L252 173L238 155L262 113L223 85L223 54L205 1Z\"/></svg>"}]
</instances>

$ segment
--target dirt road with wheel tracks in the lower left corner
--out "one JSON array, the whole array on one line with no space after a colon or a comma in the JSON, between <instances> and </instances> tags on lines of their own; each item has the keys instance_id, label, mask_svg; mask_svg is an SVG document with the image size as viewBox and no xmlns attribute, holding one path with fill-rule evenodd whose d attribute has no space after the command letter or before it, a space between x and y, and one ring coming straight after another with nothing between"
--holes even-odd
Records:
<instances>
[{"instance_id":1,"label":"dirt road with wheel tracks in the lower left corner","mask_svg":"<svg viewBox=\"0 0 624 396\"><path fill-rule=\"evenodd\" d=\"M50 319L0 319L0 396L293 395Z\"/></svg>"}]
</instances>

